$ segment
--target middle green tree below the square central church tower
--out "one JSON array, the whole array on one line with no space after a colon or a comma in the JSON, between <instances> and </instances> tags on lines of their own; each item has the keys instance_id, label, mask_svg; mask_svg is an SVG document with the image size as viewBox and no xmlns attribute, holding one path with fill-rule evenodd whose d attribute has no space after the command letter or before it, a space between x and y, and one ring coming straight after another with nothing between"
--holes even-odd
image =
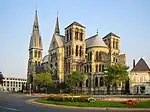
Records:
<instances>
[{"instance_id":1,"label":"middle green tree below the square central church tower","mask_svg":"<svg viewBox=\"0 0 150 112\"><path fill-rule=\"evenodd\" d=\"M71 72L66 76L66 84L69 89L74 89L77 83L83 83L85 79L85 74L80 71Z\"/></svg>"}]
</instances>

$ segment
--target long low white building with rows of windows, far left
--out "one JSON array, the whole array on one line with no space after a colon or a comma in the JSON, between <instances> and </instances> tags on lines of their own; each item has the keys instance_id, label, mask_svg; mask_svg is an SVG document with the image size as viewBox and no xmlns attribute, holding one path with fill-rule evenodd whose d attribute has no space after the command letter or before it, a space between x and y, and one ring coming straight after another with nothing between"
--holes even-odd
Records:
<instances>
[{"instance_id":1,"label":"long low white building with rows of windows, far left","mask_svg":"<svg viewBox=\"0 0 150 112\"><path fill-rule=\"evenodd\" d=\"M26 86L27 79L4 77L3 79L3 91L17 92L21 91ZM24 88L25 89L25 88Z\"/></svg>"}]
</instances>

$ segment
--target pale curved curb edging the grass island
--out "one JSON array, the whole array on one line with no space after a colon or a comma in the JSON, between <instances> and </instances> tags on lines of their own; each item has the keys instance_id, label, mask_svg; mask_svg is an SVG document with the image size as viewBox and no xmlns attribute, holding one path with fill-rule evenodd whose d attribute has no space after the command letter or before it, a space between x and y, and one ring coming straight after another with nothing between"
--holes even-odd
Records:
<instances>
[{"instance_id":1,"label":"pale curved curb edging the grass island","mask_svg":"<svg viewBox=\"0 0 150 112\"><path fill-rule=\"evenodd\" d=\"M27 101L29 104L37 104L42 105L46 107L57 107L57 108L68 108L68 109L84 109L84 110L119 110L119 111L127 111L127 110L133 110L133 111L150 111L150 108L112 108L112 107L77 107L77 106L64 106L64 105L55 105L55 104L45 104L36 102L35 99L30 99Z\"/></svg>"}]
</instances>

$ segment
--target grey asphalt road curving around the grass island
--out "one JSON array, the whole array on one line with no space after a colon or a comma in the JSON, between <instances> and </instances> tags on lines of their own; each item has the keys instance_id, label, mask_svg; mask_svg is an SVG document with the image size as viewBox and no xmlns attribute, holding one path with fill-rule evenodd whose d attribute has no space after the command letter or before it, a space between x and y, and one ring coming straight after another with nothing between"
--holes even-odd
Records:
<instances>
[{"instance_id":1,"label":"grey asphalt road curving around the grass island","mask_svg":"<svg viewBox=\"0 0 150 112\"><path fill-rule=\"evenodd\" d=\"M0 92L0 112L134 112L133 110L111 111L111 110L88 110L68 109L60 107L44 107L36 104L28 104L26 101L33 97L22 94ZM143 112L143 111L135 111ZM148 112L148 111L144 111ZM149 111L150 112L150 111Z\"/></svg>"}]
</instances>

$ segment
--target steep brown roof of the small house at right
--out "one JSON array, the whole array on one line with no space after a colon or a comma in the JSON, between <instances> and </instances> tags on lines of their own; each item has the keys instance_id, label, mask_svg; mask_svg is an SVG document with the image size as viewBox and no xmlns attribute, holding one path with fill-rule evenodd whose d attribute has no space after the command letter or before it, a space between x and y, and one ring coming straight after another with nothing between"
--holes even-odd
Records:
<instances>
[{"instance_id":1,"label":"steep brown roof of the small house at right","mask_svg":"<svg viewBox=\"0 0 150 112\"><path fill-rule=\"evenodd\" d=\"M143 72L143 71L150 71L147 63L143 58L141 58L138 63L135 65L135 67L131 70L131 72Z\"/></svg>"}]
</instances>

